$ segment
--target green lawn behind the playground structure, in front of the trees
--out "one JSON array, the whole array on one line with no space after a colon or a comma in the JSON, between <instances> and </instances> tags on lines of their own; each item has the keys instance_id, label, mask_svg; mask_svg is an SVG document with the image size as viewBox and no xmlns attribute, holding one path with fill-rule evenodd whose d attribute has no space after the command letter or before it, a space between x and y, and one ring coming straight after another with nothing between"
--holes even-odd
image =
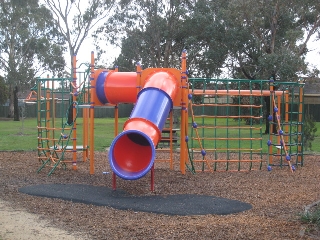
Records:
<instances>
[{"instance_id":1,"label":"green lawn behind the playground structure, in front of the trees","mask_svg":"<svg viewBox=\"0 0 320 240\"><path fill-rule=\"evenodd\" d=\"M127 120L127 118L120 118L118 129L119 132L122 131L123 124ZM57 120L59 123L61 120ZM205 119L206 125L225 125L225 119ZM191 122L191 119L189 120ZM198 126L202 124L202 119L196 120ZM61 122L60 122L61 123ZM240 122L241 126L245 126L244 121ZM239 123L237 121L229 120L227 122L228 126L238 126ZM95 126L95 136L94 136L94 144L95 150L103 151L106 147L109 147L114 139L114 119L113 118L95 118L94 119ZM256 125L255 127L259 127ZM264 132L265 125L262 126L262 132ZM320 129L320 123L317 123L317 128ZM190 133L189 136L192 136L191 128L189 128ZM202 129L198 129L199 134L202 135ZM228 132L227 132L228 131ZM320 132L320 130L319 130ZM61 132L57 131L59 135ZM195 136L195 132L193 133ZM244 130L241 129L239 134L238 129L206 129L204 131L204 136L206 137L253 137L258 138L260 136L260 130ZM320 135L320 133L318 134ZM82 144L82 136L83 136L83 124L82 118L77 119L77 145ZM269 140L269 135L263 135L262 140L262 148L263 153L267 153L268 146L267 141ZM313 152L320 153L320 137L318 136L313 142ZM198 142L194 140L194 145L197 147ZM251 140L219 140L214 145L214 141L206 141L204 147L205 148L260 148L260 141L251 141ZM69 143L71 145L71 143ZM23 121L0 121L0 150L2 151L31 151L37 149L37 121L35 118L24 119ZM295 151L294 149L292 150Z\"/></svg>"}]
</instances>

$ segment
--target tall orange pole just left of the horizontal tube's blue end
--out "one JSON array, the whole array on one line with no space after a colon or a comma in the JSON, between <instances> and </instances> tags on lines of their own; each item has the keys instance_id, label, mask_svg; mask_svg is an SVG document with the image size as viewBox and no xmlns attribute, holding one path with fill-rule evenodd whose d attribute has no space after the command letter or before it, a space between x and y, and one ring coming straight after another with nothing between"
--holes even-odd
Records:
<instances>
[{"instance_id":1,"label":"tall orange pole just left of the horizontal tube's blue end","mask_svg":"<svg viewBox=\"0 0 320 240\"><path fill-rule=\"evenodd\" d=\"M91 66L90 66L90 174L94 174L94 53L91 52Z\"/></svg>"}]
</instances>

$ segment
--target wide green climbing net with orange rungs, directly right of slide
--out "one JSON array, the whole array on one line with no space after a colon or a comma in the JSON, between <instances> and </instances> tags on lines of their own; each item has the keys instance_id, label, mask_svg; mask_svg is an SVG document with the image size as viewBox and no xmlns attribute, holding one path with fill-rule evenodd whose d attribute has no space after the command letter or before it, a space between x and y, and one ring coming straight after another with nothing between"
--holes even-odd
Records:
<instances>
[{"instance_id":1,"label":"wide green climbing net with orange rungs, directly right of slide","mask_svg":"<svg viewBox=\"0 0 320 240\"><path fill-rule=\"evenodd\" d=\"M267 81L189 81L192 86L189 148L193 168L196 171L261 169L263 97L270 94L266 90Z\"/></svg>"}]
</instances>

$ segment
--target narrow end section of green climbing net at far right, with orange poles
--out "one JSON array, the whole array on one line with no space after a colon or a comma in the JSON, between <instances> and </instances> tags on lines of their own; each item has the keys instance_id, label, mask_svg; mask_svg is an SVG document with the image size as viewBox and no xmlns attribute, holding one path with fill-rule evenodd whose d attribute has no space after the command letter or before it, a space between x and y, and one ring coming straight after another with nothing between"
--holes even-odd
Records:
<instances>
[{"instance_id":1,"label":"narrow end section of green climbing net at far right, with orange poles","mask_svg":"<svg viewBox=\"0 0 320 240\"><path fill-rule=\"evenodd\" d=\"M295 171L297 166L303 165L303 87L302 81L270 82L270 115L271 128L267 142L268 169L273 166L289 166ZM281 90L281 96L275 96L273 90ZM273 148L275 147L275 149Z\"/></svg>"}]
</instances>

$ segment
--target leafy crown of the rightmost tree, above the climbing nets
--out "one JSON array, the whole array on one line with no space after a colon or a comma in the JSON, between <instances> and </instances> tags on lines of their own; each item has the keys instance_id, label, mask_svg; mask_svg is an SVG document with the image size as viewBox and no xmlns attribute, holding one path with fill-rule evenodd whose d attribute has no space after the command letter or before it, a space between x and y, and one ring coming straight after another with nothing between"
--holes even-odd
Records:
<instances>
[{"instance_id":1,"label":"leafy crown of the rightmost tree, above the climbing nets","mask_svg":"<svg viewBox=\"0 0 320 240\"><path fill-rule=\"evenodd\" d=\"M307 74L310 37L319 31L318 1L229 1L222 10L233 77L290 81Z\"/></svg>"}]
</instances>

